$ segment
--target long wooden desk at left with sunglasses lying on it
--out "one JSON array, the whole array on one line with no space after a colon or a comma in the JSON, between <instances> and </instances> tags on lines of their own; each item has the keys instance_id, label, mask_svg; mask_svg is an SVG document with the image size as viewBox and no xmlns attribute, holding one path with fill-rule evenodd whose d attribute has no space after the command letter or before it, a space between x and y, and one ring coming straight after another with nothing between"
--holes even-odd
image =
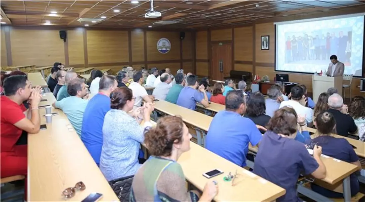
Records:
<instances>
[{"instance_id":1,"label":"long wooden desk at left with sunglasses lying on it","mask_svg":"<svg viewBox=\"0 0 365 202\"><path fill-rule=\"evenodd\" d=\"M59 114L47 129L28 135L28 201L65 201L62 191L80 181L86 189L70 201L82 201L92 192L103 194L100 201L119 201L66 115L52 111ZM45 109L40 114L45 124Z\"/></svg>"}]
</instances>

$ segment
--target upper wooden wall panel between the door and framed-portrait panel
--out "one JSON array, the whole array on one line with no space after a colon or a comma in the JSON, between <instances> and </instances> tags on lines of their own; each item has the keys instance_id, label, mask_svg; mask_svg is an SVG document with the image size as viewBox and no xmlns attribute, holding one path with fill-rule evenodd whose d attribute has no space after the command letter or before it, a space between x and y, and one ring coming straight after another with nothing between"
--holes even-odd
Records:
<instances>
[{"instance_id":1,"label":"upper wooden wall panel between the door and framed-portrait panel","mask_svg":"<svg viewBox=\"0 0 365 202\"><path fill-rule=\"evenodd\" d=\"M234 60L252 61L252 27L234 29Z\"/></svg>"}]
</instances>

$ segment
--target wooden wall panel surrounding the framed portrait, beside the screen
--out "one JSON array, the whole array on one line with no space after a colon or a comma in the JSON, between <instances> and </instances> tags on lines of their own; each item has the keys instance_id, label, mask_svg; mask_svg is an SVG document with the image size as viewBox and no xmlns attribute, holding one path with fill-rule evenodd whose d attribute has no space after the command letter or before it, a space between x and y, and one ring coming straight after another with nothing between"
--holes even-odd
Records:
<instances>
[{"instance_id":1,"label":"wooden wall panel surrounding the framed portrait, beside the screen","mask_svg":"<svg viewBox=\"0 0 365 202\"><path fill-rule=\"evenodd\" d=\"M273 63L275 57L275 27L273 23L262 23L255 25L255 48L256 62ZM261 36L269 35L270 50L261 50Z\"/></svg>"}]
</instances>

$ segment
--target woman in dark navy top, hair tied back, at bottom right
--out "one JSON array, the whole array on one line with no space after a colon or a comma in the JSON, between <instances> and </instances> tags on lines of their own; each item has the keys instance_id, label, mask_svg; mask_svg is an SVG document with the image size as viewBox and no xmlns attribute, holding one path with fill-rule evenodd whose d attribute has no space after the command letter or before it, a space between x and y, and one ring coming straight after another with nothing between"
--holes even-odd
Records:
<instances>
[{"instance_id":1,"label":"woman in dark navy top, hair tied back, at bottom right","mask_svg":"<svg viewBox=\"0 0 365 202\"><path fill-rule=\"evenodd\" d=\"M361 170L359 157L356 155L350 143L345 138L331 136L331 133L336 133L336 121L333 114L328 112L318 114L315 124L318 132L316 136L318 137L312 141L317 142L322 147L322 153L335 159L357 165L358 169ZM342 183L337 185L331 186L330 188L312 183L311 188L313 191L328 198L343 198ZM360 191L359 181L355 173L350 175L350 187L352 197Z\"/></svg>"}]
</instances>

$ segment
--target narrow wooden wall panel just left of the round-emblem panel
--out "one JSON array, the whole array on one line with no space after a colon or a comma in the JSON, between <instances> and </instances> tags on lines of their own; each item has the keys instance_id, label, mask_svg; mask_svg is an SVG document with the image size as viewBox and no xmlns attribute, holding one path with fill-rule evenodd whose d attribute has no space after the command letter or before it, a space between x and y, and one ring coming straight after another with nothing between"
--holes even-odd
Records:
<instances>
[{"instance_id":1,"label":"narrow wooden wall panel just left of the round-emblem panel","mask_svg":"<svg viewBox=\"0 0 365 202\"><path fill-rule=\"evenodd\" d=\"M132 40L132 61L134 62L145 61L143 30L141 29L133 30L131 33L131 40Z\"/></svg>"}]
</instances>

